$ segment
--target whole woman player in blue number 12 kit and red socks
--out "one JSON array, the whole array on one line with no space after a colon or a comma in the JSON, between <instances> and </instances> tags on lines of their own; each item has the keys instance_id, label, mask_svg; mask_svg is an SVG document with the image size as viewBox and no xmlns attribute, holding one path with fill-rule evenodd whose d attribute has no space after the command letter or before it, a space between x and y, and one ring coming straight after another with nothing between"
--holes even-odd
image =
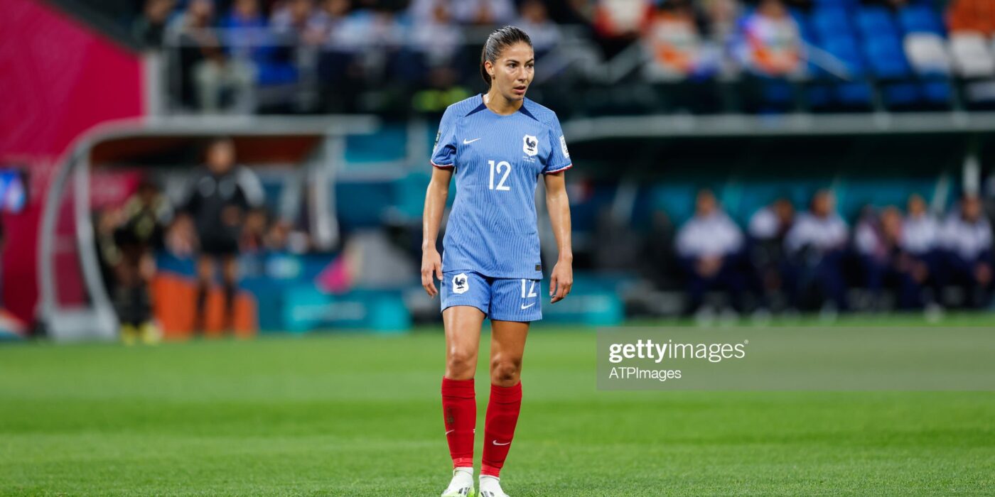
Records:
<instances>
[{"instance_id":1,"label":"whole woman player in blue number 12 kit and red socks","mask_svg":"<svg viewBox=\"0 0 995 497\"><path fill-rule=\"evenodd\" d=\"M480 495L506 497L498 473L511 446L521 406L521 357L528 324L542 318L542 279L535 223L540 174L559 248L549 279L551 302L573 284L570 210L563 171L572 165L556 114L525 98L534 59L528 35L510 26L488 38L481 75L490 89L446 109L436 136L435 166L425 198L422 285L442 286L446 373L442 406L453 457L453 480L443 497L473 496L477 401L474 372L484 318L491 318L491 400L484 426ZM436 248L449 184L457 197Z\"/></svg>"}]
</instances>

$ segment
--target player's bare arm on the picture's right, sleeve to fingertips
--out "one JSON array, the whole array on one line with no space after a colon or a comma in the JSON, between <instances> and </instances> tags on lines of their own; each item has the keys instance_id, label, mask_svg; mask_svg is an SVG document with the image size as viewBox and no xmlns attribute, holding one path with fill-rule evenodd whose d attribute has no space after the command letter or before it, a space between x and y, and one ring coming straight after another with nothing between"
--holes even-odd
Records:
<instances>
[{"instance_id":1,"label":"player's bare arm on the picture's right, sleeve to fingertips","mask_svg":"<svg viewBox=\"0 0 995 497\"><path fill-rule=\"evenodd\" d=\"M549 277L550 303L562 300L573 287L573 248L570 243L570 203L566 195L563 171L543 175L546 185L546 210L556 237L559 256Z\"/></svg>"}]
</instances>

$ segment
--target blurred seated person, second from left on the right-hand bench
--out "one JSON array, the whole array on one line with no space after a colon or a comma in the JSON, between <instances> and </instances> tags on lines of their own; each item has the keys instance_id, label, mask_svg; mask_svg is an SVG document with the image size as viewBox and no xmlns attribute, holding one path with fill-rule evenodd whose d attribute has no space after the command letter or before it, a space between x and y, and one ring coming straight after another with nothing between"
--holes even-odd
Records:
<instances>
[{"instance_id":1,"label":"blurred seated person, second from left on the right-hand bench","mask_svg":"<svg viewBox=\"0 0 995 497\"><path fill-rule=\"evenodd\" d=\"M794 223L795 207L786 198L775 200L749 220L749 257L754 276L753 290L769 302L772 293L784 291L782 273L787 265L784 237Z\"/></svg>"}]
</instances>

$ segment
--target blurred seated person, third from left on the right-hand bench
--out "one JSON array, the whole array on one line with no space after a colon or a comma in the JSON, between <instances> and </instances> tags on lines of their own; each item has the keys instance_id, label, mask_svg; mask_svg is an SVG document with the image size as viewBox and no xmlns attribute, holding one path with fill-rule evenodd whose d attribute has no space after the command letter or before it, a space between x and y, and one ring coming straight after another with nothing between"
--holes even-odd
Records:
<instances>
[{"instance_id":1,"label":"blurred seated person, third from left on the right-hand bench","mask_svg":"<svg viewBox=\"0 0 995 497\"><path fill-rule=\"evenodd\" d=\"M812 197L809 212L800 214L784 238L784 248L791 259L787 273L797 299L803 293L820 291L823 308L831 300L836 310L848 308L843 280L843 255L847 247L847 224L836 213L836 199L829 190Z\"/></svg>"}]
</instances>

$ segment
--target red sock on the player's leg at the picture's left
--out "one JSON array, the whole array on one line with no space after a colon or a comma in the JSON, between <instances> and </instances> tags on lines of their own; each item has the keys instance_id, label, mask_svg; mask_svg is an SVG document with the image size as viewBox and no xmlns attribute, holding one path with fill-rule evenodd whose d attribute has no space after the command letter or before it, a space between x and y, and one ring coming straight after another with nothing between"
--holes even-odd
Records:
<instances>
[{"instance_id":1,"label":"red sock on the player's leg at the picture's left","mask_svg":"<svg viewBox=\"0 0 995 497\"><path fill-rule=\"evenodd\" d=\"M477 396L474 380L442 379L442 414L453 467L474 466L474 427L477 426Z\"/></svg>"}]
</instances>

